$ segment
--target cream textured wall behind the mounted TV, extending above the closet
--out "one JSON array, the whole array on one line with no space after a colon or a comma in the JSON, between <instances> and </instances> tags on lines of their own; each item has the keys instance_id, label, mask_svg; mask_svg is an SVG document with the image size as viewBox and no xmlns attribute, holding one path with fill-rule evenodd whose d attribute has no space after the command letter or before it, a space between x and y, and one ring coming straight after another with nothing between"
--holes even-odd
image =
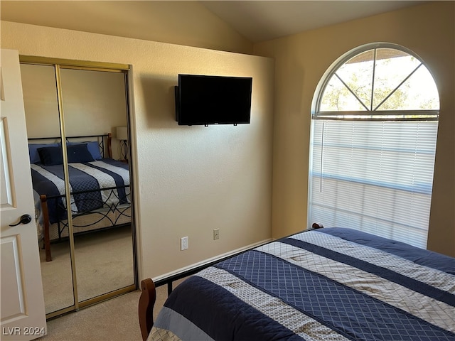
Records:
<instances>
[{"instance_id":1,"label":"cream textured wall behind the mounted TV, extending above the closet","mask_svg":"<svg viewBox=\"0 0 455 341\"><path fill-rule=\"evenodd\" d=\"M271 237L273 60L8 21L1 21L1 47L132 65L140 278ZM178 73L253 77L251 124L178 126ZM189 249L180 251L184 236Z\"/></svg>"}]
</instances>

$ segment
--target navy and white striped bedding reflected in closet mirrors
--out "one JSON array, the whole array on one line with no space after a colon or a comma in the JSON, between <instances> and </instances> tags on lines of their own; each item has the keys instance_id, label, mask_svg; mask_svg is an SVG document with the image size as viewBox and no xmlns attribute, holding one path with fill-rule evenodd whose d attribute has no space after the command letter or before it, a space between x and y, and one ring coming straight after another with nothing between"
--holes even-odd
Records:
<instances>
[{"instance_id":1,"label":"navy and white striped bedding reflected in closet mirrors","mask_svg":"<svg viewBox=\"0 0 455 341\"><path fill-rule=\"evenodd\" d=\"M73 215L129 202L129 170L126 163L103 158L87 163L70 163L68 171ZM65 197L60 197L65 195L63 165L32 163L31 178L33 190L38 195L55 197L48 199L50 224L65 219Z\"/></svg>"}]
</instances>

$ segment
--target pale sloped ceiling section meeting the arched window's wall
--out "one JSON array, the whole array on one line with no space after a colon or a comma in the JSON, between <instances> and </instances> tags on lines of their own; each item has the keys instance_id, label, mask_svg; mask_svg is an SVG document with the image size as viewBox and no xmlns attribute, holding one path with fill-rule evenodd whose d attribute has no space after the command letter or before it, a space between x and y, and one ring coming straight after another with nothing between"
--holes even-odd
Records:
<instances>
[{"instance_id":1,"label":"pale sloped ceiling section meeting the arched window's wall","mask_svg":"<svg viewBox=\"0 0 455 341\"><path fill-rule=\"evenodd\" d=\"M258 43L294 33L373 16L425 1L200 1Z\"/></svg>"}]
</instances>

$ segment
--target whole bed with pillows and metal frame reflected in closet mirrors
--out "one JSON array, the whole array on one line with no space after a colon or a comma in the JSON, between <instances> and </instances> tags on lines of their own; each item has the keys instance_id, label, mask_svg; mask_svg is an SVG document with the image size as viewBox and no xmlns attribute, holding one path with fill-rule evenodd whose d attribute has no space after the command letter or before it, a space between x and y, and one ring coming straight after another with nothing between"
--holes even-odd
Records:
<instances>
[{"instance_id":1,"label":"whole bed with pillows and metal frame reflected in closet mirrors","mask_svg":"<svg viewBox=\"0 0 455 341\"><path fill-rule=\"evenodd\" d=\"M131 223L129 166L112 158L111 134L67 137L74 234ZM46 261L51 242L68 237L65 170L60 138L28 139L38 241Z\"/></svg>"}]
</instances>

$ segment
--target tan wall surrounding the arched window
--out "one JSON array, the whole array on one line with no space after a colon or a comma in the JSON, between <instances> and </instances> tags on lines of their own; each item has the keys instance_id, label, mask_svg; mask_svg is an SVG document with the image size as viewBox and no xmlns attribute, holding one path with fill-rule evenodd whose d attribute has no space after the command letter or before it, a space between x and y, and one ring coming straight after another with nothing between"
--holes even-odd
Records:
<instances>
[{"instance_id":1,"label":"tan wall surrounding the arched window","mask_svg":"<svg viewBox=\"0 0 455 341\"><path fill-rule=\"evenodd\" d=\"M255 45L275 58L272 230L306 227L311 101L323 73L359 45L396 43L417 53L434 75L440 120L428 248L455 256L454 1L430 1Z\"/></svg>"}]
</instances>

